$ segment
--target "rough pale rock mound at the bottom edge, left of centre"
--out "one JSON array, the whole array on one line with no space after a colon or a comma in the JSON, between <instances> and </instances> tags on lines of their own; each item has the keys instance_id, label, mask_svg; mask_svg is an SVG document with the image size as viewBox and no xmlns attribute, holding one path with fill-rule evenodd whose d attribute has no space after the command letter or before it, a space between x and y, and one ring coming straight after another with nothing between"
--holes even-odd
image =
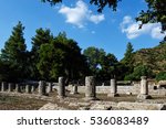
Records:
<instances>
[{"instance_id":1,"label":"rough pale rock mound at the bottom edge, left of centre","mask_svg":"<svg viewBox=\"0 0 166 129\"><path fill-rule=\"evenodd\" d=\"M43 107L41 107L39 110L68 110L66 108L59 107L56 104L48 103Z\"/></svg>"}]
</instances>

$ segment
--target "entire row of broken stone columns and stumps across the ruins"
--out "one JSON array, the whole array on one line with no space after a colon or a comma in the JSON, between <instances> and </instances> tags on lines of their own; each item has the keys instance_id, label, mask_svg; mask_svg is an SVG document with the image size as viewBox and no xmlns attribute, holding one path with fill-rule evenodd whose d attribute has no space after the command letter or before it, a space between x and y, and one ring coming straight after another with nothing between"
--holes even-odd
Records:
<instances>
[{"instance_id":1,"label":"entire row of broken stone columns and stumps across the ruins","mask_svg":"<svg viewBox=\"0 0 166 129\"><path fill-rule=\"evenodd\" d=\"M1 92L7 90L7 83L2 82ZM12 92L13 86L11 83L8 84L8 92ZM34 92L34 86L27 85L25 93ZM15 85L15 92L21 93L21 86L19 84ZM49 83L48 92L46 92L46 83L44 80L39 82L39 95L46 95L46 93L52 92L52 84ZM72 94L77 94L77 86L73 86ZM111 92L107 94L108 97L116 97L120 96L117 94L117 85L114 78L111 79ZM58 97L64 98L65 97L65 83L64 77L59 77L59 88L58 88ZM148 82L146 76L142 76L141 80L141 93L138 94L137 98L139 99L149 99L152 98L148 95ZM95 87L95 78L93 76L85 77L85 100L96 100L96 87Z\"/></svg>"}]
</instances>

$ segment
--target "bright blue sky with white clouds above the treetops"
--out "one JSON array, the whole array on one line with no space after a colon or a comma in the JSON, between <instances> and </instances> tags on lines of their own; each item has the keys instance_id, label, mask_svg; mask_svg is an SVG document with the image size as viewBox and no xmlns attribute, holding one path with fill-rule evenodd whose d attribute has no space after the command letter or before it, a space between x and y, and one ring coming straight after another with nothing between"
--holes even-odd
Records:
<instances>
[{"instance_id":1,"label":"bright blue sky with white clouds above the treetops","mask_svg":"<svg viewBox=\"0 0 166 129\"><path fill-rule=\"evenodd\" d=\"M106 53L113 53L118 60L124 56L126 44L134 50L153 47L158 44L160 24L146 24L138 30L135 17L146 9L144 0L122 0L116 12L105 8L97 13L96 7L89 0L63 0L61 4L50 7L40 0L0 0L0 49L11 35L12 28L21 21L25 26L24 39L31 50L31 37L39 28L50 29L54 35L65 31L81 49L96 46Z\"/></svg>"}]
</instances>

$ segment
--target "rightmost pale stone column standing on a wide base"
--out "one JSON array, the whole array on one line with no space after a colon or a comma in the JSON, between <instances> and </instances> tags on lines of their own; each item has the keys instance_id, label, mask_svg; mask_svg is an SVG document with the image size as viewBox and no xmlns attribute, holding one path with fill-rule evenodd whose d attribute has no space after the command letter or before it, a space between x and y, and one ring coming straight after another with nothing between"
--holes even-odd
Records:
<instances>
[{"instance_id":1,"label":"rightmost pale stone column standing on a wide base","mask_svg":"<svg viewBox=\"0 0 166 129\"><path fill-rule=\"evenodd\" d=\"M148 95L148 82L146 76L141 77L141 93L137 96L138 99L149 99L152 96Z\"/></svg>"}]
</instances>

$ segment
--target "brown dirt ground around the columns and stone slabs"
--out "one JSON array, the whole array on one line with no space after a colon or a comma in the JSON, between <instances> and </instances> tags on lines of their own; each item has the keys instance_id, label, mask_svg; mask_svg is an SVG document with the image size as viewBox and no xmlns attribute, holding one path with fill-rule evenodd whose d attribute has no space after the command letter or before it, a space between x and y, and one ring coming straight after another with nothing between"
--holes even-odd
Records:
<instances>
[{"instance_id":1,"label":"brown dirt ground around the columns and stone slabs","mask_svg":"<svg viewBox=\"0 0 166 129\"><path fill-rule=\"evenodd\" d=\"M96 97L101 101L138 101L136 95L120 95L118 97L107 97L106 94L97 94ZM71 95L66 92L65 101L58 99L56 92L53 92L44 98L35 97L33 94L30 95L12 95L0 93L0 110L38 110L48 103L56 104L68 109L76 109L75 107L69 107L69 103L84 101L84 94ZM153 96L153 99L146 100L147 103L166 103L166 96Z\"/></svg>"}]
</instances>

